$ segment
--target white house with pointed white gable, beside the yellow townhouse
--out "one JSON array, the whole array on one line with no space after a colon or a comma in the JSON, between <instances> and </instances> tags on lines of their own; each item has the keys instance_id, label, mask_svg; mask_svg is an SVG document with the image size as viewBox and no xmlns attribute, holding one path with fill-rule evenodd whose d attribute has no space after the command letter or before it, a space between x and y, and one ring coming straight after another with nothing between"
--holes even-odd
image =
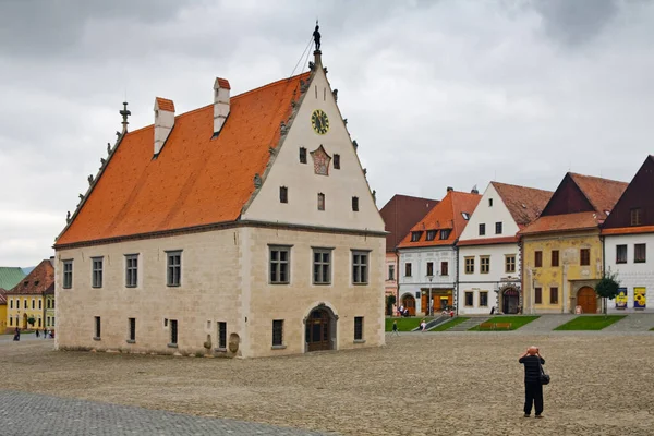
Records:
<instances>
[{"instance_id":1,"label":"white house with pointed white gable, beside the yellow townhouse","mask_svg":"<svg viewBox=\"0 0 654 436\"><path fill-rule=\"evenodd\" d=\"M518 313L518 231L543 210L552 192L491 182L457 246L459 314ZM493 310L495 307L495 310Z\"/></svg>"}]
</instances>

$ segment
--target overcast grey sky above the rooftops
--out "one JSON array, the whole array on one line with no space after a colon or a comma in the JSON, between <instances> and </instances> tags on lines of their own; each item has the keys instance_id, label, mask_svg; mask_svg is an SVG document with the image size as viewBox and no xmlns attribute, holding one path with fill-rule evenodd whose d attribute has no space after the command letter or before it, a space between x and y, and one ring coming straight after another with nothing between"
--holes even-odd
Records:
<instances>
[{"instance_id":1,"label":"overcast grey sky above the rooftops","mask_svg":"<svg viewBox=\"0 0 654 436\"><path fill-rule=\"evenodd\" d=\"M654 154L654 2L0 0L0 265L31 266L107 142L323 62L379 208L566 171L630 181ZM302 71L306 65L302 65Z\"/></svg>"}]
</instances>

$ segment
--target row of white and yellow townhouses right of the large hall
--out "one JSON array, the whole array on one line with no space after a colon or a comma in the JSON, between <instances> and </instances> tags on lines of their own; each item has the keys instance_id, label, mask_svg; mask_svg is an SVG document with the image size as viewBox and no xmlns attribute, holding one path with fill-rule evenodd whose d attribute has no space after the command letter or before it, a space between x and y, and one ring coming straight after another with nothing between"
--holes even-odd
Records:
<instances>
[{"instance_id":1,"label":"row of white and yellow townhouses right of the large hall","mask_svg":"<svg viewBox=\"0 0 654 436\"><path fill-rule=\"evenodd\" d=\"M595 286L610 270L621 288L608 310L651 311L652 192L652 156L629 184L567 173L554 193L448 189L396 247L399 304L412 314L596 313Z\"/></svg>"}]
</instances>

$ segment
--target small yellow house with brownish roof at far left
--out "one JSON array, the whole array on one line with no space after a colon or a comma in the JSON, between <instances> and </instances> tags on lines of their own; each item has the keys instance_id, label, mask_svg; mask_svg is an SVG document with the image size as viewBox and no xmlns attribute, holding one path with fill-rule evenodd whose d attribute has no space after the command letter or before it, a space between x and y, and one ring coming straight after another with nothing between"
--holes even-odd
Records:
<instances>
[{"instance_id":1,"label":"small yellow house with brownish roof at far left","mask_svg":"<svg viewBox=\"0 0 654 436\"><path fill-rule=\"evenodd\" d=\"M7 292L7 328L43 329L44 293L55 283L51 261L41 261L21 282ZM31 323L34 320L34 323Z\"/></svg>"}]
</instances>

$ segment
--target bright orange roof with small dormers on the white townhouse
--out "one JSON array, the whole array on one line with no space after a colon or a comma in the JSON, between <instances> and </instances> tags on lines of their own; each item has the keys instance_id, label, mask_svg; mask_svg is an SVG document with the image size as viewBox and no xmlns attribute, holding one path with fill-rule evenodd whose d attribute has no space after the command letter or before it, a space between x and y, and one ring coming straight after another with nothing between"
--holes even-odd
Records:
<instances>
[{"instance_id":1,"label":"bright orange roof with small dormers on the white townhouse","mask_svg":"<svg viewBox=\"0 0 654 436\"><path fill-rule=\"evenodd\" d=\"M482 198L479 194L469 194L467 192L450 191L445 198L440 201L432 210L425 215L413 228L413 231L423 231L420 241L411 242L411 232L409 232L402 242L398 244L398 249L408 249L412 246L434 246L434 245L452 245L463 232L468 220L463 218L462 213L472 215L477 203ZM426 240L427 230L451 230L448 239L438 239L440 234L433 241Z\"/></svg>"}]
</instances>

